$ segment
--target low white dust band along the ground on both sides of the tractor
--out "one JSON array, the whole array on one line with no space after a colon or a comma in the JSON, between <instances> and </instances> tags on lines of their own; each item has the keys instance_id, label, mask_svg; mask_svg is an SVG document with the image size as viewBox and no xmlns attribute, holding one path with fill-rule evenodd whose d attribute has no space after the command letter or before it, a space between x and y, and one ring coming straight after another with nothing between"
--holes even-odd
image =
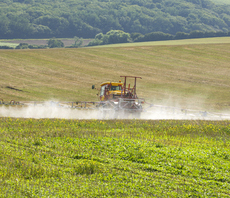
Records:
<instances>
[{"instance_id":1,"label":"low white dust band along the ground on both sides of the tractor","mask_svg":"<svg viewBox=\"0 0 230 198\"><path fill-rule=\"evenodd\" d=\"M60 119L205 119L221 120L230 119L230 114L211 114L206 111L191 110L181 107L180 104L169 103L167 105L154 105L143 107L144 111L140 117L133 117L131 114L118 114L114 116L114 111L106 113L97 109L74 109L70 107L60 107L54 103L47 102L44 105L28 106L0 106L0 117L15 118L60 118ZM146 109L145 109L146 108Z\"/></svg>"}]
</instances>

